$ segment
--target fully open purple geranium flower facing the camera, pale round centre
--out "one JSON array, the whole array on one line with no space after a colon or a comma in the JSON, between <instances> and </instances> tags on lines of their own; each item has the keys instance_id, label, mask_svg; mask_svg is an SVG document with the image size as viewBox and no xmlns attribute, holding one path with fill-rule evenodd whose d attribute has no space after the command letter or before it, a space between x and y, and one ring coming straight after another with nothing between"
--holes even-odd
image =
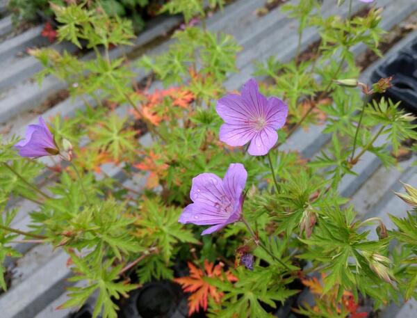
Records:
<instances>
[{"instance_id":1,"label":"fully open purple geranium flower facing the camera, pale round centre","mask_svg":"<svg viewBox=\"0 0 417 318\"><path fill-rule=\"evenodd\" d=\"M229 94L220 100L216 111L224 120L220 140L227 145L242 146L253 156L262 156L277 143L277 129L285 124L288 106L277 97L266 98L259 93L255 79L242 88L241 95Z\"/></svg>"}]
</instances>

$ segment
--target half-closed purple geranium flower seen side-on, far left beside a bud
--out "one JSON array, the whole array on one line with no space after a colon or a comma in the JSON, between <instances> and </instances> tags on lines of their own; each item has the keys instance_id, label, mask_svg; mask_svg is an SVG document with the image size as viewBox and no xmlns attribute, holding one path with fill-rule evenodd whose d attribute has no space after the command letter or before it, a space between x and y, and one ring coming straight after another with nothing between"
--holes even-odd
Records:
<instances>
[{"instance_id":1,"label":"half-closed purple geranium flower seen side-on, far left beside a bud","mask_svg":"<svg viewBox=\"0 0 417 318\"><path fill-rule=\"evenodd\" d=\"M39 117L39 125L28 125L26 138L16 143L15 148L22 157L38 158L59 154L54 136L42 117Z\"/></svg>"}]
</instances>

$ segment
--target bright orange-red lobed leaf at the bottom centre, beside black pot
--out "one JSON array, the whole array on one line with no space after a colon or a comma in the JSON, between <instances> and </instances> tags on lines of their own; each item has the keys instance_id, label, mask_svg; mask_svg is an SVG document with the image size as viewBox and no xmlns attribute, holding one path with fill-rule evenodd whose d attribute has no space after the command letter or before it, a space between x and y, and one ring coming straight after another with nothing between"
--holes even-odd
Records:
<instances>
[{"instance_id":1,"label":"bright orange-red lobed leaf at the bottom centre, beside black pot","mask_svg":"<svg viewBox=\"0 0 417 318\"><path fill-rule=\"evenodd\" d=\"M190 269L190 276L175 278L174 282L179 283L184 292L192 293L188 297L188 315L192 315L193 312L198 312L200 308L207 310L208 297L213 299L216 303L220 303L222 299L222 292L208 284L204 277L215 277L223 280L222 263L214 265L214 263L204 260L204 270L195 267L192 263L188 262L188 268ZM236 282L236 278L230 271L226 272L227 280L230 282Z\"/></svg>"}]
</instances>

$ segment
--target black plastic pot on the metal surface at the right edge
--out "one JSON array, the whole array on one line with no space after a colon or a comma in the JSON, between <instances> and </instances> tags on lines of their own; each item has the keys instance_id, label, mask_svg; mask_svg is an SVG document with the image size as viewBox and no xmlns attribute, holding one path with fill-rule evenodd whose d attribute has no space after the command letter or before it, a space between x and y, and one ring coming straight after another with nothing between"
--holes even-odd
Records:
<instances>
[{"instance_id":1,"label":"black plastic pot on the metal surface at the right edge","mask_svg":"<svg viewBox=\"0 0 417 318\"><path fill-rule=\"evenodd\" d=\"M393 77L393 87L386 90L386 97L401 102L407 111L417 113L417 39L398 54L388 58L372 74L372 81Z\"/></svg>"}]
</instances>

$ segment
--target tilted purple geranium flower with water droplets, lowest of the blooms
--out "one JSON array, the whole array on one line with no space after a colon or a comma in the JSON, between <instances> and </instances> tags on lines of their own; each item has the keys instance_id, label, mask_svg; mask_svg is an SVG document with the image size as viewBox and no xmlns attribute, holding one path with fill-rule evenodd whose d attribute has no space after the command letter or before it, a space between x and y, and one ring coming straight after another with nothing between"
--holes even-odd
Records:
<instances>
[{"instance_id":1,"label":"tilted purple geranium flower with water droplets, lowest of the blooms","mask_svg":"<svg viewBox=\"0 0 417 318\"><path fill-rule=\"evenodd\" d=\"M213 225L202 235L224 228L240 219L247 172L243 164L231 164L223 180L213 173L202 173L193 178L188 205L179 217L180 223Z\"/></svg>"}]
</instances>

